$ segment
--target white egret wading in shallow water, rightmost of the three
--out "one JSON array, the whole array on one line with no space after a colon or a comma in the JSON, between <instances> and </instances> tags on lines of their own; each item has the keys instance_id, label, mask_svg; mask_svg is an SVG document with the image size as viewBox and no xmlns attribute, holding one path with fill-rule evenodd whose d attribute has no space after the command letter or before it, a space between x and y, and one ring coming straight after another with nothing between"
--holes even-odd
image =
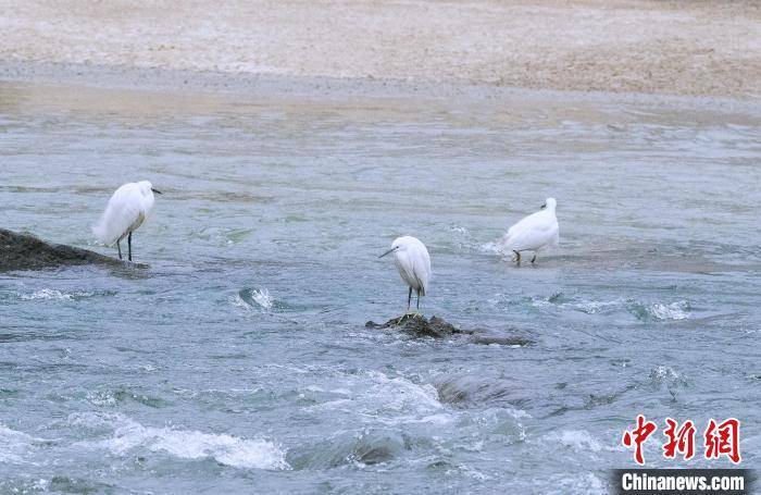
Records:
<instances>
[{"instance_id":1,"label":"white egret wading in shallow water, rightmost of the three","mask_svg":"<svg viewBox=\"0 0 761 495\"><path fill-rule=\"evenodd\" d=\"M556 205L554 198L547 198L541 211L524 218L511 226L502 237L502 247L515 253L517 264L521 264L521 251L534 251L533 263L539 249L558 246L560 243L558 218L554 215Z\"/></svg>"}]
</instances>

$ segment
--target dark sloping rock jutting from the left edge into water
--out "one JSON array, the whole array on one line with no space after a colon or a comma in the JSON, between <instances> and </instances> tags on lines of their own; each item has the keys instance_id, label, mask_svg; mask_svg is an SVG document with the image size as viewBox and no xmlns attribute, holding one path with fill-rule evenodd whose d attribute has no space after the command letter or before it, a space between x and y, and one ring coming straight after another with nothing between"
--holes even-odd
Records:
<instances>
[{"instance_id":1,"label":"dark sloping rock jutting from the left edge into water","mask_svg":"<svg viewBox=\"0 0 761 495\"><path fill-rule=\"evenodd\" d=\"M48 244L29 234L0 228L0 272L90 263L118 265L122 261L87 249Z\"/></svg>"}]
</instances>

